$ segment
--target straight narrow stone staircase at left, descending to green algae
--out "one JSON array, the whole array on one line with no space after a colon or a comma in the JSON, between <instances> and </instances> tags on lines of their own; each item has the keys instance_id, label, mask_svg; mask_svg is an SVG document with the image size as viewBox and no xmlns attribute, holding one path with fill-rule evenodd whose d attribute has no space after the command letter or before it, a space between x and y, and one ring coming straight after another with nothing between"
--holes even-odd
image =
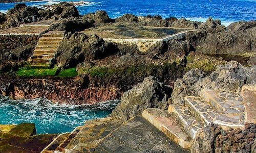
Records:
<instances>
[{"instance_id":1,"label":"straight narrow stone staircase at left, descending to green algae","mask_svg":"<svg viewBox=\"0 0 256 153\"><path fill-rule=\"evenodd\" d=\"M31 63L49 63L56 53L59 43L64 38L63 31L50 31L43 34L35 47L29 61Z\"/></svg>"}]
</instances>

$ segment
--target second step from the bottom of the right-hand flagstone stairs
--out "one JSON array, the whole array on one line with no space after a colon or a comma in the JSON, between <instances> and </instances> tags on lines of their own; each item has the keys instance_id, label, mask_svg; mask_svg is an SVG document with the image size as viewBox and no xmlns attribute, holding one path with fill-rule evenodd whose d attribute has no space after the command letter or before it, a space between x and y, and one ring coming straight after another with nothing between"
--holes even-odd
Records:
<instances>
[{"instance_id":1,"label":"second step from the bottom of the right-hand flagstone stairs","mask_svg":"<svg viewBox=\"0 0 256 153\"><path fill-rule=\"evenodd\" d=\"M203 127L187 107L169 105L168 111L192 139L196 137L197 132Z\"/></svg>"}]
</instances>

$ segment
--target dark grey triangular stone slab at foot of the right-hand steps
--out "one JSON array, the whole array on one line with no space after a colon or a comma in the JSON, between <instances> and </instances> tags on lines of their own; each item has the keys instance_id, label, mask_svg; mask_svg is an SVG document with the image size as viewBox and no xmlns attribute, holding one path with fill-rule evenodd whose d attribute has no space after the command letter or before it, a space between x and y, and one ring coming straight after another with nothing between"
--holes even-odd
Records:
<instances>
[{"instance_id":1,"label":"dark grey triangular stone slab at foot of the right-hand steps","mask_svg":"<svg viewBox=\"0 0 256 153\"><path fill-rule=\"evenodd\" d=\"M100 141L94 152L188 152L160 132L142 116L122 124Z\"/></svg>"}]
</instances>

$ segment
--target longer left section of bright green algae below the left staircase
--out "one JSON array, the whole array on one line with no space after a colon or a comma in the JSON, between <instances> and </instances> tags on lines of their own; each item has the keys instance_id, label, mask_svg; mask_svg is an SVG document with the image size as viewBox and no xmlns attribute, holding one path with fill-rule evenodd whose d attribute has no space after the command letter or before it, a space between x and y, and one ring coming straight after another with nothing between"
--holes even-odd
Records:
<instances>
[{"instance_id":1,"label":"longer left section of bright green algae below the left staircase","mask_svg":"<svg viewBox=\"0 0 256 153\"><path fill-rule=\"evenodd\" d=\"M20 68L16 72L17 77L36 77L36 78L43 78L43 77L51 77L54 76L57 71L57 68Z\"/></svg>"}]
</instances>

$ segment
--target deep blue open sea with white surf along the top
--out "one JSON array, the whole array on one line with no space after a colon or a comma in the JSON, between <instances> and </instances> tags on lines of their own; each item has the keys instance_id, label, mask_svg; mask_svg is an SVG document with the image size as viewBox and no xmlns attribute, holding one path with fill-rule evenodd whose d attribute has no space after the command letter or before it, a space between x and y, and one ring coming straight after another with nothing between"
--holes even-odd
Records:
<instances>
[{"instance_id":1,"label":"deep blue open sea with white surf along the top","mask_svg":"<svg viewBox=\"0 0 256 153\"><path fill-rule=\"evenodd\" d=\"M45 4L59 2L80 2L80 0L53 0L28 2L28 6L40 7ZM111 18L124 13L146 16L161 15L162 17L184 17L194 21L206 21L211 16L221 19L222 24L229 25L239 20L256 19L256 0L91 0L77 6L79 13L86 14L97 10L105 10ZM0 12L13 8L15 3L0 4Z\"/></svg>"}]
</instances>

